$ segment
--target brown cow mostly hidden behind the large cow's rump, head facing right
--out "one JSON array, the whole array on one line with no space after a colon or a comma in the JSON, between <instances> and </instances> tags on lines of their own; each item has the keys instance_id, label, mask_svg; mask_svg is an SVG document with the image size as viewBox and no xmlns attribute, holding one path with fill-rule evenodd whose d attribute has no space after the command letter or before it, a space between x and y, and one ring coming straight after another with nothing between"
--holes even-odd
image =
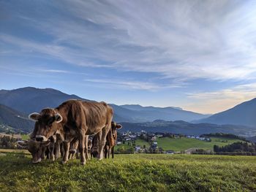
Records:
<instances>
[{"instance_id":1,"label":"brown cow mostly hidden behind the large cow's rump, head facing right","mask_svg":"<svg viewBox=\"0 0 256 192\"><path fill-rule=\"evenodd\" d=\"M114 158L114 147L116 145L117 139L117 129L122 128L122 126L116 122L111 122L111 130L108 131L107 142L104 147L105 158L110 158L110 153L112 154L112 158Z\"/></svg>"}]
</instances>

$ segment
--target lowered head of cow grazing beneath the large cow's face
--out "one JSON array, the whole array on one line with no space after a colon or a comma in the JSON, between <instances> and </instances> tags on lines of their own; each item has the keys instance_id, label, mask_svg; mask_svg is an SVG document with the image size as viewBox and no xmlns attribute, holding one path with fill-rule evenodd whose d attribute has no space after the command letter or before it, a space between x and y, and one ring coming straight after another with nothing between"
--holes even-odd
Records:
<instances>
[{"instance_id":1,"label":"lowered head of cow grazing beneath the large cow's face","mask_svg":"<svg viewBox=\"0 0 256 192\"><path fill-rule=\"evenodd\" d=\"M50 145L50 140L37 142L35 139L29 139L18 141L17 144L20 147L27 148L32 155L32 163L37 164L42 160L43 147Z\"/></svg>"}]
</instances>

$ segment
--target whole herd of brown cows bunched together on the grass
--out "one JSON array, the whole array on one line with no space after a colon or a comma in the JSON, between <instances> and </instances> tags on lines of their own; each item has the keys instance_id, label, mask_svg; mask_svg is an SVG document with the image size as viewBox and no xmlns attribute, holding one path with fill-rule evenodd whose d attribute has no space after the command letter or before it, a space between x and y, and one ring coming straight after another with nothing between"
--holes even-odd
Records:
<instances>
[{"instance_id":1,"label":"whole herd of brown cows bunched together on the grass","mask_svg":"<svg viewBox=\"0 0 256 192\"><path fill-rule=\"evenodd\" d=\"M105 102L68 100L54 109L34 112L29 118L35 121L30 139L18 142L39 163L45 155L53 161L62 156L62 164L74 155L80 155L80 164L95 157L113 158L117 129L113 122L113 109ZM90 155L89 155L90 153Z\"/></svg>"}]
</instances>

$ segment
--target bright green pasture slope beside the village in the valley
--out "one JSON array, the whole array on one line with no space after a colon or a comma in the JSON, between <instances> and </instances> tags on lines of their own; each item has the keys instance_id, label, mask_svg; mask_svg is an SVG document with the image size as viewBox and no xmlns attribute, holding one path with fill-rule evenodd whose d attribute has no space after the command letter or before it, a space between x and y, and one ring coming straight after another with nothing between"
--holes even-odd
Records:
<instances>
[{"instance_id":1,"label":"bright green pasture slope beside the village in the valley","mask_svg":"<svg viewBox=\"0 0 256 192\"><path fill-rule=\"evenodd\" d=\"M214 150L214 145L224 146L233 142L241 142L238 139L229 139L224 137L211 137L211 142L200 141L198 139L191 138L157 138L158 147L162 147L163 150L187 150L192 147L197 147L205 150Z\"/></svg>"}]
</instances>

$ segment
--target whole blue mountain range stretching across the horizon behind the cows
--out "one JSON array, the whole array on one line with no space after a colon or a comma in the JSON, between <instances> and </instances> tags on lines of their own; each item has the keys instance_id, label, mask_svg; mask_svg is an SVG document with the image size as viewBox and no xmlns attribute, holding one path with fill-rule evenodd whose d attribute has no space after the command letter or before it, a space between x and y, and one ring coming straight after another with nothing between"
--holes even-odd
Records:
<instances>
[{"instance_id":1,"label":"whole blue mountain range stretching across the horizon behind the cows","mask_svg":"<svg viewBox=\"0 0 256 192\"><path fill-rule=\"evenodd\" d=\"M62 93L52 88L26 87L10 91L0 90L0 123L12 126L16 130L22 128L23 130L31 131L34 123L27 119L29 113L40 112L45 107L58 107L59 104L68 99L90 101L76 95ZM246 134L253 134L256 125L256 118L254 118L256 114L256 99L238 104L230 110L214 115L190 112L182 110L180 107L142 107L138 104L110 105L114 110L114 120L117 122L126 122L123 123L125 125L122 129L123 131L127 128L133 130L136 126L141 129L146 127L149 128L148 130L154 129L154 131L160 131L159 128L162 128L162 130L174 130L180 131L181 133L192 133L197 130L199 132L203 132L203 130L222 132L230 130L230 133L234 133L232 130L236 129L235 132L241 134L239 132L240 128L240 130L246 130ZM161 120L162 126L159 126ZM177 126L178 122L179 126ZM184 125L187 125L185 126L186 131L184 131ZM246 126L250 126L251 128L246 128ZM208 133L208 131L204 133Z\"/></svg>"}]
</instances>

